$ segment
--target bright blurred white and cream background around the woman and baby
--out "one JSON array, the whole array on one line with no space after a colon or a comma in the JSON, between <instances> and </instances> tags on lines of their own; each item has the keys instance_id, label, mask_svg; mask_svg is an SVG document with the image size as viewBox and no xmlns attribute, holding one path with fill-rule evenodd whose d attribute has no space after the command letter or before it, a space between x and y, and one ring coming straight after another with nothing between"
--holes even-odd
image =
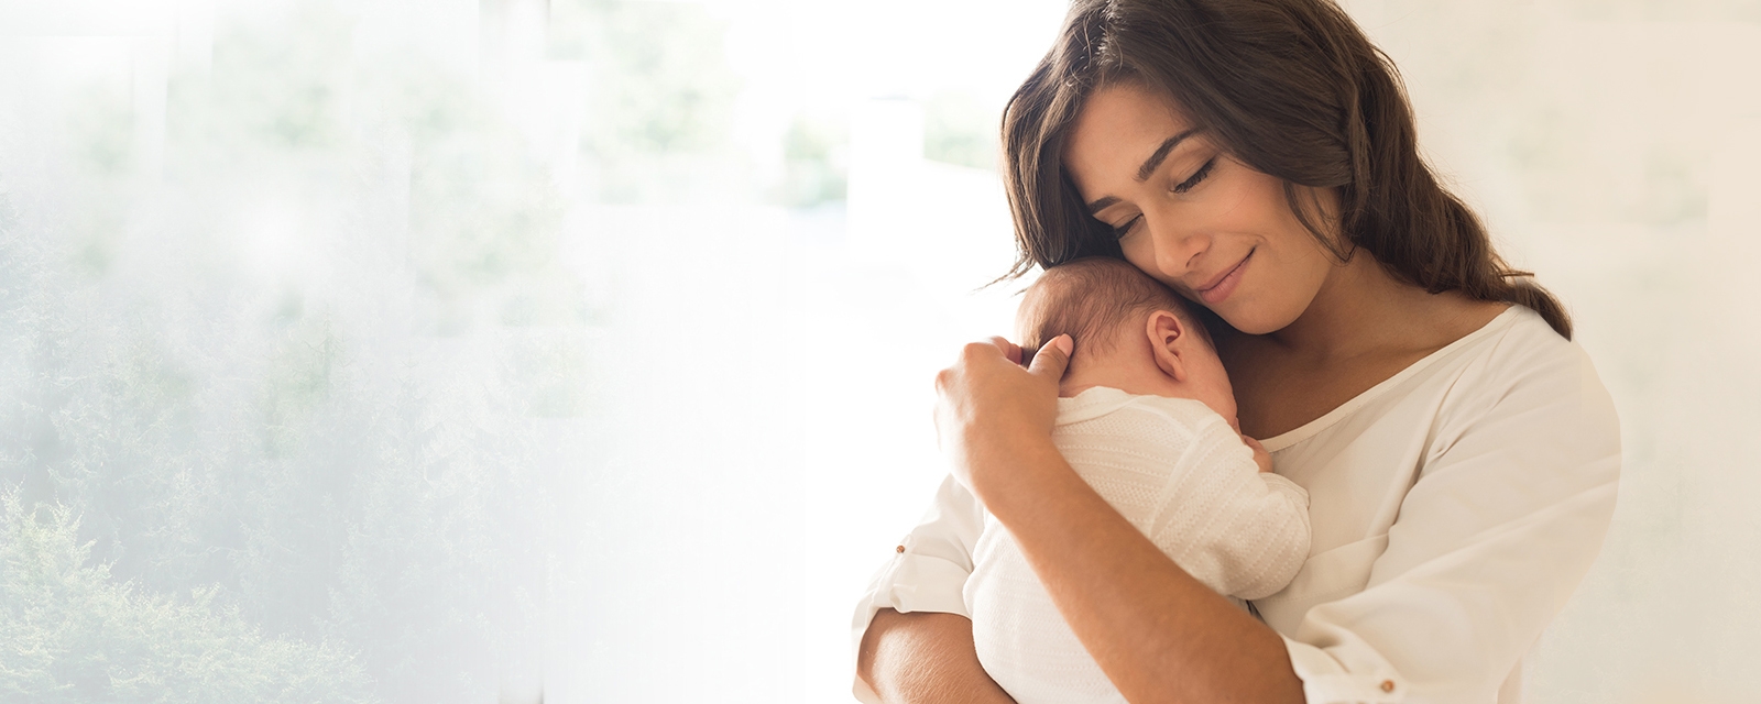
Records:
<instances>
[{"instance_id":1,"label":"bright blurred white and cream background around the woman and baby","mask_svg":"<svg viewBox=\"0 0 1761 704\"><path fill-rule=\"evenodd\" d=\"M1534 702L1761 695L1761 5L1354 0L1622 414ZM1051 0L0 0L0 699L849 700Z\"/></svg>"}]
</instances>

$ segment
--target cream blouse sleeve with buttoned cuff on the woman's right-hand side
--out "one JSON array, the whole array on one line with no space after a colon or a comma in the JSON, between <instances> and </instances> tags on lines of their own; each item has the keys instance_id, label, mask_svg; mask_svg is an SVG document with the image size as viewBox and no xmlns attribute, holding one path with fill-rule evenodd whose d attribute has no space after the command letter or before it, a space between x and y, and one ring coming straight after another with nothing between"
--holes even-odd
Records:
<instances>
[{"instance_id":1,"label":"cream blouse sleeve with buttoned cuff on the woman's right-hand side","mask_svg":"<svg viewBox=\"0 0 1761 704\"><path fill-rule=\"evenodd\" d=\"M1361 591L1286 632L1308 704L1493 702L1590 570L1615 509L1618 419L1583 350L1557 341L1467 370L1414 438L1425 449L1388 535L1337 549L1374 563Z\"/></svg>"}]
</instances>

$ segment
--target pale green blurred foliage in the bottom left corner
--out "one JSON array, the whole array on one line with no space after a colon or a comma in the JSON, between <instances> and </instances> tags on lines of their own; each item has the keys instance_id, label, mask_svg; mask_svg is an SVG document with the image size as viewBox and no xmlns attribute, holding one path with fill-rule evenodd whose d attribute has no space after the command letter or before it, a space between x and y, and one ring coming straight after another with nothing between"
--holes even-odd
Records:
<instances>
[{"instance_id":1,"label":"pale green blurred foliage in the bottom left corner","mask_svg":"<svg viewBox=\"0 0 1761 704\"><path fill-rule=\"evenodd\" d=\"M354 653L266 637L217 590L116 583L67 507L0 495L0 699L9 702L370 702Z\"/></svg>"}]
</instances>

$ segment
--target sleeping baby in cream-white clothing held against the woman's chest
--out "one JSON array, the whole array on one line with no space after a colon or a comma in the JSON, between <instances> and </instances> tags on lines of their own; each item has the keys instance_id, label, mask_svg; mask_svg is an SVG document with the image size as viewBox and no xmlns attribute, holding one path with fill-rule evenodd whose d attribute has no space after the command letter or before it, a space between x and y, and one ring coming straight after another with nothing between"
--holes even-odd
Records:
<instances>
[{"instance_id":1,"label":"sleeping baby in cream-white clothing held against the woman's chest","mask_svg":"<svg viewBox=\"0 0 1761 704\"><path fill-rule=\"evenodd\" d=\"M1236 429L1229 377L1185 301L1131 264L1079 259L1028 287L1016 333L1028 350L1076 340L1053 440L1164 554L1236 604L1296 576L1308 495ZM1016 702L1124 702L988 514L972 563L972 641Z\"/></svg>"}]
</instances>

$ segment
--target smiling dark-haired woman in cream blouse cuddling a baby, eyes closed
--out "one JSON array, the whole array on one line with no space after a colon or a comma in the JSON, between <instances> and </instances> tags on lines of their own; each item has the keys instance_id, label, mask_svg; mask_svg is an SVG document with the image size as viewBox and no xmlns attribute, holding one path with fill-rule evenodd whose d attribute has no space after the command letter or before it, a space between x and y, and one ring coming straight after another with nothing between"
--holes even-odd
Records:
<instances>
[{"instance_id":1,"label":"smiling dark-haired woman in cream blouse cuddling a baby, eyes closed","mask_svg":"<svg viewBox=\"0 0 1761 704\"><path fill-rule=\"evenodd\" d=\"M1618 424L1558 301L1419 160L1386 56L1326 0L1078 0L1004 148L1018 273L1124 257L1217 313L1312 553L1231 607L1053 449L1069 341L974 343L937 378L958 480L858 609L858 693L1009 700L960 602L983 503L1132 702L1516 700L1608 530Z\"/></svg>"}]
</instances>

